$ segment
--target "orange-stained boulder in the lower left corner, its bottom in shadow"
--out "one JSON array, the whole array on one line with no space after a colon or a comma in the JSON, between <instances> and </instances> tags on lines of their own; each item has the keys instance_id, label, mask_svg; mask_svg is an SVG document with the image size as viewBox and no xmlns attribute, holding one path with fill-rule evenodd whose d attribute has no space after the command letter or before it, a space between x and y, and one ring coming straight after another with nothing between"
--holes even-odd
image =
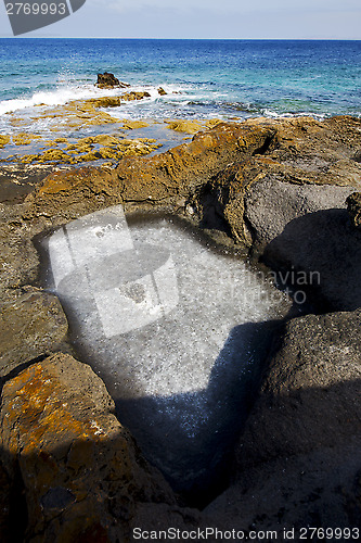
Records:
<instances>
[{"instance_id":1,"label":"orange-stained boulder in the lower left corner, its bottom in shadow","mask_svg":"<svg viewBox=\"0 0 361 543\"><path fill-rule=\"evenodd\" d=\"M113 411L103 382L68 355L7 382L0 445L25 489L26 541L128 541L138 505L173 503Z\"/></svg>"}]
</instances>

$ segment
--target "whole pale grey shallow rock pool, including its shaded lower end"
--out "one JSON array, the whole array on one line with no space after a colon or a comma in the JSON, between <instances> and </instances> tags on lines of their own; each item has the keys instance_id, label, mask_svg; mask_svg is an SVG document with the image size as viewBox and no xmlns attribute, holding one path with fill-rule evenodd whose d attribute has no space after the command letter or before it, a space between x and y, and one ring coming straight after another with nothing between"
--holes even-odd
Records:
<instances>
[{"instance_id":1,"label":"whole pale grey shallow rock pool, including its shaded lower end","mask_svg":"<svg viewBox=\"0 0 361 543\"><path fill-rule=\"evenodd\" d=\"M289 307L237 257L121 206L47 240L73 341L120 421L179 491L203 489L245 420L271 321Z\"/></svg>"}]
</instances>

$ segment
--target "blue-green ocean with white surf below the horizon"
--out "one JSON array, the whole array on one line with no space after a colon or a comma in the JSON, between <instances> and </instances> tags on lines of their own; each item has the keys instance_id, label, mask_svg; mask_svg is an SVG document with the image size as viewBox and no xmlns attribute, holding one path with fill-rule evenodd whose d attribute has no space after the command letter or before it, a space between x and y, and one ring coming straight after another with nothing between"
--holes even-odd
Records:
<instances>
[{"instance_id":1,"label":"blue-green ocean with white surf below the horizon","mask_svg":"<svg viewBox=\"0 0 361 543\"><path fill-rule=\"evenodd\" d=\"M121 118L361 115L361 41L0 39L0 134L9 113L119 93L94 87L105 71L151 93Z\"/></svg>"}]
</instances>

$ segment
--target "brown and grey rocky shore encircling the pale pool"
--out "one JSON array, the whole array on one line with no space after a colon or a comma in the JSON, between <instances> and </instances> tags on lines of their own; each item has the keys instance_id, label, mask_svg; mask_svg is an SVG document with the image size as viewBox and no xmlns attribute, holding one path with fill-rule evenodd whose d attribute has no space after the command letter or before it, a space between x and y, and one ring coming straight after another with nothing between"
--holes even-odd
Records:
<instances>
[{"instance_id":1,"label":"brown and grey rocky shore encircling the pale pool","mask_svg":"<svg viewBox=\"0 0 361 543\"><path fill-rule=\"evenodd\" d=\"M360 526L360 150L353 117L219 123L115 168L51 172L0 204L1 541ZM177 214L274 273L319 274L310 314L284 324L265 362L233 482L202 513L141 456L41 287L37 240L115 204Z\"/></svg>"}]
</instances>

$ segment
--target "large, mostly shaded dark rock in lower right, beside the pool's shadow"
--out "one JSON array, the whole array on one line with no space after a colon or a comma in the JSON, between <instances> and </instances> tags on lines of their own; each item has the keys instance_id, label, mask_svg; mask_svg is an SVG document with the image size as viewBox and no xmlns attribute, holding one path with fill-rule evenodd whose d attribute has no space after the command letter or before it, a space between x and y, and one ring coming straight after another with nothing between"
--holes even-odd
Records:
<instances>
[{"instance_id":1,"label":"large, mostly shaded dark rock in lower right, beside the pool's shadow","mask_svg":"<svg viewBox=\"0 0 361 543\"><path fill-rule=\"evenodd\" d=\"M360 311L286 325L238 443L237 482L206 519L280 536L360 526Z\"/></svg>"}]
</instances>

